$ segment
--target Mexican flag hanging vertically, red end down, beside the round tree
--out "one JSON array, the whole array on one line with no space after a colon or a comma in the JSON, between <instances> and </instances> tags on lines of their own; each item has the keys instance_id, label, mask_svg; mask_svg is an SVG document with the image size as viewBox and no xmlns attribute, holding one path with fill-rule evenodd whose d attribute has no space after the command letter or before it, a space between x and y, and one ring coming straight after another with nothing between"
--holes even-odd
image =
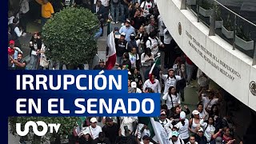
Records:
<instances>
[{"instance_id":1,"label":"Mexican flag hanging vertically, red end down, beside the round tree","mask_svg":"<svg viewBox=\"0 0 256 144\"><path fill-rule=\"evenodd\" d=\"M107 46L106 46L106 69L112 70L117 60L116 50L115 50L115 43L114 43L114 32L111 29L111 18L108 20L107 26Z\"/></svg>"}]
</instances>

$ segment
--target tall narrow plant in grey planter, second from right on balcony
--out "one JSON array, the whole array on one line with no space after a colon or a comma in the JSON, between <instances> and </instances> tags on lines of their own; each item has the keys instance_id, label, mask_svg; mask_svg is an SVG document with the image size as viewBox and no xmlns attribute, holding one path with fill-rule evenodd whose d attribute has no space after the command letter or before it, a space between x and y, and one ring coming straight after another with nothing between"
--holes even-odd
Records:
<instances>
[{"instance_id":1,"label":"tall narrow plant in grey planter, second from right on balcony","mask_svg":"<svg viewBox=\"0 0 256 144\"><path fill-rule=\"evenodd\" d=\"M234 38L234 26L230 19L230 14L226 18L226 23L222 26L222 34L224 34L226 38Z\"/></svg>"}]
</instances>

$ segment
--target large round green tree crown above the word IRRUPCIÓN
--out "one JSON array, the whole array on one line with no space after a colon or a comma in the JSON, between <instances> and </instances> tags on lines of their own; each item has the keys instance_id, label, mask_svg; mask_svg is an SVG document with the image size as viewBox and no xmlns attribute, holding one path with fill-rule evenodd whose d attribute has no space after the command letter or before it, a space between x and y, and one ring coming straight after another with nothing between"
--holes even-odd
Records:
<instances>
[{"instance_id":1,"label":"large round green tree crown above the word IRRUPCI\u00d3N","mask_svg":"<svg viewBox=\"0 0 256 144\"><path fill-rule=\"evenodd\" d=\"M69 7L55 14L42 28L47 58L74 65L90 62L97 53L98 23L96 15L84 8Z\"/></svg>"}]
</instances>

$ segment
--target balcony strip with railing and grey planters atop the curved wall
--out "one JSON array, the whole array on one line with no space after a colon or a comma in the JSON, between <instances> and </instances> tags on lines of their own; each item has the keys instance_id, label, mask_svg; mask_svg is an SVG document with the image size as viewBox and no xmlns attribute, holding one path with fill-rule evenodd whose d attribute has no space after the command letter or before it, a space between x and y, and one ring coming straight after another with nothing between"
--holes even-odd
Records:
<instances>
[{"instance_id":1,"label":"balcony strip with railing and grey planters atop the curved wall","mask_svg":"<svg viewBox=\"0 0 256 144\"><path fill-rule=\"evenodd\" d=\"M181 3L181 10L191 10L198 22L209 27L209 36L218 34L233 50L253 58L252 65L256 65L256 24L250 22L255 12L242 11L240 6L228 8L216 0L182 0Z\"/></svg>"}]
</instances>

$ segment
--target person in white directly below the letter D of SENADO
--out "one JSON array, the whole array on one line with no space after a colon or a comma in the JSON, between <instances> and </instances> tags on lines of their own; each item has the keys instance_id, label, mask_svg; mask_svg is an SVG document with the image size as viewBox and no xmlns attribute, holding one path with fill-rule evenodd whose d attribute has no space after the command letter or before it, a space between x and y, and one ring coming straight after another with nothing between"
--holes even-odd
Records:
<instances>
[{"instance_id":1,"label":"person in white directly below the letter D of SENADO","mask_svg":"<svg viewBox=\"0 0 256 144\"><path fill-rule=\"evenodd\" d=\"M126 136L125 127L129 130L129 133L132 134L134 130L134 122L138 122L138 117L120 117L120 129L122 136Z\"/></svg>"}]
</instances>

